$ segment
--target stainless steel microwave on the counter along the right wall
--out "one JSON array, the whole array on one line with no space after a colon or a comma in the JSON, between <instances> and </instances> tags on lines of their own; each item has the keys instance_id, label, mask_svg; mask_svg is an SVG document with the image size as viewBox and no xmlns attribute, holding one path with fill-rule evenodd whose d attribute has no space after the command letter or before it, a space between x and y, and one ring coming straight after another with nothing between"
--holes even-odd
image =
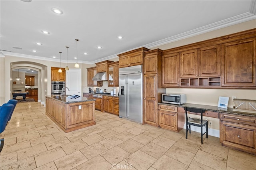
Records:
<instances>
[{"instance_id":1,"label":"stainless steel microwave on the counter along the right wall","mask_svg":"<svg viewBox=\"0 0 256 170\"><path fill-rule=\"evenodd\" d=\"M162 94L162 103L182 105L187 102L186 94Z\"/></svg>"}]
</instances>

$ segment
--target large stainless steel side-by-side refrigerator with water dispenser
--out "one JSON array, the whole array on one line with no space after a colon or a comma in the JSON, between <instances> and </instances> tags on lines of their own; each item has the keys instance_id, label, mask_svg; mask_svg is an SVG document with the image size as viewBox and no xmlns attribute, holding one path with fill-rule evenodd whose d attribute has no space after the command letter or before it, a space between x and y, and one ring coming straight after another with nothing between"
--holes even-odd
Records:
<instances>
[{"instance_id":1,"label":"large stainless steel side-by-side refrigerator with water dispenser","mask_svg":"<svg viewBox=\"0 0 256 170\"><path fill-rule=\"evenodd\" d=\"M142 65L119 69L119 117L142 123Z\"/></svg>"}]
</instances>

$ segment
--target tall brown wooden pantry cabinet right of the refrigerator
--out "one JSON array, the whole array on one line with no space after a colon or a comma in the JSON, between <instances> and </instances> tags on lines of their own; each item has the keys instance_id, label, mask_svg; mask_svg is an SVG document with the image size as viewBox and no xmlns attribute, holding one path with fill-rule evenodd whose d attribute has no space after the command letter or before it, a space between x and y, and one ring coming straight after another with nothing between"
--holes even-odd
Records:
<instances>
[{"instance_id":1,"label":"tall brown wooden pantry cabinet right of the refrigerator","mask_svg":"<svg viewBox=\"0 0 256 170\"><path fill-rule=\"evenodd\" d=\"M158 126L158 103L165 89L158 88L162 77L162 50L144 52L144 123Z\"/></svg>"}]
</instances>

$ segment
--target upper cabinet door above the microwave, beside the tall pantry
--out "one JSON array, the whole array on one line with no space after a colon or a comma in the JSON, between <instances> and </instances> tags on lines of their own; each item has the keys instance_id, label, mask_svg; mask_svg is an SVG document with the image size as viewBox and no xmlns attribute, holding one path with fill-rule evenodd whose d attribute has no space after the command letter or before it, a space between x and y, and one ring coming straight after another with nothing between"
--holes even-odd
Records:
<instances>
[{"instance_id":1,"label":"upper cabinet door above the microwave, beside the tall pantry","mask_svg":"<svg viewBox=\"0 0 256 170\"><path fill-rule=\"evenodd\" d=\"M180 54L166 54L162 57L162 86L180 86Z\"/></svg>"}]
</instances>

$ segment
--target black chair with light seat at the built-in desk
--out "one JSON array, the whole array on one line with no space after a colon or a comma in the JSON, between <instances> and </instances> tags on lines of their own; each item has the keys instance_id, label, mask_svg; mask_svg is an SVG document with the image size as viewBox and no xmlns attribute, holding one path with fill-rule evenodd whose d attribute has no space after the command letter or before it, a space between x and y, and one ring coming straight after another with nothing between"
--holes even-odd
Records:
<instances>
[{"instance_id":1,"label":"black chair with light seat at the built-in desk","mask_svg":"<svg viewBox=\"0 0 256 170\"><path fill-rule=\"evenodd\" d=\"M201 143L203 143L203 135L205 133L206 133L206 138L208 138L208 121L203 120L203 113L205 112L205 110L190 108L190 107L184 107L184 109L186 114L186 139L188 138L188 130L189 130L189 133L191 133L190 125L201 127ZM188 111L193 113L201 113L201 119L188 117L188 113L187 113ZM203 133L203 127L206 127L206 131L204 133Z\"/></svg>"}]
</instances>

